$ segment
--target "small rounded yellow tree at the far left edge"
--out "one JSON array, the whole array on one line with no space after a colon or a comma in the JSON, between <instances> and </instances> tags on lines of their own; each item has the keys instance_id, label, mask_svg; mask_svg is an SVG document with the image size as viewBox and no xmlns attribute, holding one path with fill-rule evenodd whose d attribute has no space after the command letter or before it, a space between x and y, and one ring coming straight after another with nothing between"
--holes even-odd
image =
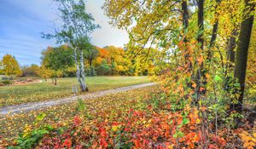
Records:
<instances>
[{"instance_id":1,"label":"small rounded yellow tree at the far left edge","mask_svg":"<svg viewBox=\"0 0 256 149\"><path fill-rule=\"evenodd\" d=\"M21 75L21 69L18 61L11 54L5 54L1 60L3 66L3 74L9 77Z\"/></svg>"}]
</instances>

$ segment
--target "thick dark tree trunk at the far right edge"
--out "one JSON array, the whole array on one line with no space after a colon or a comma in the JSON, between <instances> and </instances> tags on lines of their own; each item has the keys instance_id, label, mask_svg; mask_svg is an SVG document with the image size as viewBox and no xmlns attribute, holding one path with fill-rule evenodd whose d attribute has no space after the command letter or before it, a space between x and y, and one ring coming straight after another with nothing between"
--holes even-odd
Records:
<instances>
[{"instance_id":1,"label":"thick dark tree trunk at the far right edge","mask_svg":"<svg viewBox=\"0 0 256 149\"><path fill-rule=\"evenodd\" d=\"M250 12L253 12L254 5L250 4L249 0L245 0L245 5L247 9L244 10L244 13L247 14L244 16L244 20L241 22L241 31L238 37L234 70L234 77L238 79L241 89L239 90L238 103L231 104L230 106L233 110L236 110L236 112L241 112L242 110L242 100L247 70L247 54L253 28L253 15L250 15Z\"/></svg>"}]
</instances>

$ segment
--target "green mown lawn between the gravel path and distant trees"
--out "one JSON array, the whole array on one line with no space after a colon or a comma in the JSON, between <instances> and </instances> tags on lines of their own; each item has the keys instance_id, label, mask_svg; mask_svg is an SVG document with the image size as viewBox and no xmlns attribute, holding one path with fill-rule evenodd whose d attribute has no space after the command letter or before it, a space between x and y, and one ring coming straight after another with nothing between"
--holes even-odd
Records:
<instances>
[{"instance_id":1,"label":"green mown lawn between the gravel path and distant trees","mask_svg":"<svg viewBox=\"0 0 256 149\"><path fill-rule=\"evenodd\" d=\"M73 86L79 88L76 77L59 78L57 81L56 86L51 83L51 80L48 80L48 82L42 83L0 87L0 107L41 100L57 100L73 95ZM149 80L148 77L86 77L86 83L90 92L96 92L149 83Z\"/></svg>"}]
</instances>

